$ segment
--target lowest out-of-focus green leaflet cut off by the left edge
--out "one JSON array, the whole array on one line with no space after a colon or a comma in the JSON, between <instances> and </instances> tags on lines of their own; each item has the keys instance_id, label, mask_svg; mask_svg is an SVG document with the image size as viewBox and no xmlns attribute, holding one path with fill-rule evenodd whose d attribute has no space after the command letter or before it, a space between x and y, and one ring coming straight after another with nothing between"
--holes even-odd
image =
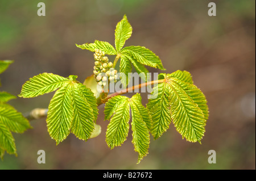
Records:
<instances>
[{"instance_id":1,"label":"lowest out-of-focus green leaflet cut off by the left edge","mask_svg":"<svg viewBox=\"0 0 256 181\"><path fill-rule=\"evenodd\" d=\"M6 150L9 154L17 155L13 135L2 121L0 121L0 149Z\"/></svg>"}]
</instances>

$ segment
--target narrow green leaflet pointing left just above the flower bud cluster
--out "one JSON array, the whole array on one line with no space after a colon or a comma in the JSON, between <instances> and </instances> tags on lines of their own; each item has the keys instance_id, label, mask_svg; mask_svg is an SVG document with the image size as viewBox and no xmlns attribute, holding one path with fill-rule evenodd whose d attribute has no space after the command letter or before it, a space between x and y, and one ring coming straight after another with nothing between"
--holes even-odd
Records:
<instances>
[{"instance_id":1,"label":"narrow green leaflet pointing left just above the flower bud cluster","mask_svg":"<svg viewBox=\"0 0 256 181\"><path fill-rule=\"evenodd\" d=\"M117 54L117 51L115 50L115 48L110 43L108 43L106 41L95 40L94 43L85 43L82 45L76 44L76 47L81 48L81 49L86 49L91 52L94 52L95 49L100 49L101 51L104 51L106 54L109 54L109 55Z\"/></svg>"}]
</instances>

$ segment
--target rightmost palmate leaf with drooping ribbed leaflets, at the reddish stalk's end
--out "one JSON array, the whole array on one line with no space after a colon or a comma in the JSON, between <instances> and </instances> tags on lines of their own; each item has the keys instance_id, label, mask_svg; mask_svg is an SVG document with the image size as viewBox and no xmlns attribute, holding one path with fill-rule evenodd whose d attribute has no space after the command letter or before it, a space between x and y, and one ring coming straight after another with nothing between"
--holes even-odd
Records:
<instances>
[{"instance_id":1,"label":"rightmost palmate leaf with drooping ribbed leaflets, at the reddish stalk's end","mask_svg":"<svg viewBox=\"0 0 256 181\"><path fill-rule=\"evenodd\" d=\"M200 142L208 119L207 100L203 92L192 83L187 71L160 74L165 82L154 87L147 108L152 119L151 133L154 138L165 132L171 119L181 136L187 141Z\"/></svg>"}]
</instances>

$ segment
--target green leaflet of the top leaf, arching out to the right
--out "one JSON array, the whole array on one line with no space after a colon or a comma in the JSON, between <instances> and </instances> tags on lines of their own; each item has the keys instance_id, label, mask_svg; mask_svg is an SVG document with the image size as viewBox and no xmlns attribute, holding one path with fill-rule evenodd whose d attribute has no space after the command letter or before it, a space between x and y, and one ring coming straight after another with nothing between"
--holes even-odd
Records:
<instances>
[{"instance_id":1,"label":"green leaflet of the top leaf, arching out to the right","mask_svg":"<svg viewBox=\"0 0 256 181\"><path fill-rule=\"evenodd\" d=\"M152 68L158 68L161 70L166 70L163 68L162 61L155 53L151 50L140 47L140 46L130 46L122 49L121 53L129 54L130 57L137 60L139 63Z\"/></svg>"}]
</instances>

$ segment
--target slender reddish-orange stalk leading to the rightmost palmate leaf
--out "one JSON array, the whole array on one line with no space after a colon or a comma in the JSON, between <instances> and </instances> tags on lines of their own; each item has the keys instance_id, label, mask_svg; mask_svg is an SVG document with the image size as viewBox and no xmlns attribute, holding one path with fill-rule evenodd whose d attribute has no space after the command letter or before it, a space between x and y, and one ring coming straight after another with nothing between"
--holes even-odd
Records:
<instances>
[{"instance_id":1,"label":"slender reddish-orange stalk leading to the rightmost palmate leaf","mask_svg":"<svg viewBox=\"0 0 256 181\"><path fill-rule=\"evenodd\" d=\"M154 85L156 83L163 83L163 82L166 82L166 79L160 79L160 80L156 80L156 81L145 82L145 83L133 86L133 87L127 87L126 89L114 92L113 94L109 94L108 96L106 96L105 99L101 99L101 102L98 104L98 106L100 106L101 104L106 103L113 96L122 95L122 94L125 94L127 92L134 91L136 89L141 89L142 87L146 87L148 85Z\"/></svg>"}]
</instances>

